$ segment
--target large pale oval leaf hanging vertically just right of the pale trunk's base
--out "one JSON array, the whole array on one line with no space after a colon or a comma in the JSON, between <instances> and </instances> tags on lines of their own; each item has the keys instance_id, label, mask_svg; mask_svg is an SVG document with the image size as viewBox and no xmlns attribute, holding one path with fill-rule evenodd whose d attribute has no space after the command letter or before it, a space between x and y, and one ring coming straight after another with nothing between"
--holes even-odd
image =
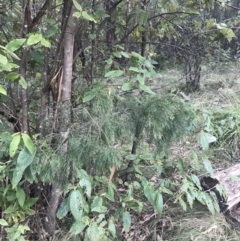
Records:
<instances>
[{"instance_id":1,"label":"large pale oval leaf hanging vertically just right of the pale trunk's base","mask_svg":"<svg viewBox=\"0 0 240 241\"><path fill-rule=\"evenodd\" d=\"M70 211L75 220L80 220L83 216L84 196L79 190L72 190L69 198Z\"/></svg>"}]
</instances>

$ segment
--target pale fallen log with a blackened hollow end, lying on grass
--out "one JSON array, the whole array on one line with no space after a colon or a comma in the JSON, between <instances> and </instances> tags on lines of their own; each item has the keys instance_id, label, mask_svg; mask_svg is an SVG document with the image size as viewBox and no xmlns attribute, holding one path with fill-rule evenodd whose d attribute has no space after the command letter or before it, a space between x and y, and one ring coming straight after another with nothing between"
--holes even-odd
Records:
<instances>
[{"instance_id":1,"label":"pale fallen log with a blackened hollow end, lying on grass","mask_svg":"<svg viewBox=\"0 0 240 241\"><path fill-rule=\"evenodd\" d=\"M220 211L227 221L240 229L240 164L221 170L212 177L202 176L200 181L204 190L216 194ZM225 196L217 191L218 184L224 188Z\"/></svg>"}]
</instances>

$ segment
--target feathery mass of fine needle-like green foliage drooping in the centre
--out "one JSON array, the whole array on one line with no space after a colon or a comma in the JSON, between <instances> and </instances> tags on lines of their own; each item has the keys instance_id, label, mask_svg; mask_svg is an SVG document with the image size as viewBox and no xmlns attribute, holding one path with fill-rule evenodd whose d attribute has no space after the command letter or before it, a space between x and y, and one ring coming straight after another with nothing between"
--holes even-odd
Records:
<instances>
[{"instance_id":1,"label":"feathery mass of fine needle-like green foliage drooping in the centre","mask_svg":"<svg viewBox=\"0 0 240 241\"><path fill-rule=\"evenodd\" d=\"M193 111L178 96L109 94L101 88L91 102L76 115L69 158L76 168L107 173L113 165L125 165L123 155L133 145L148 143L153 154L166 151L178 140L193 118ZM132 153L136 154L136 153Z\"/></svg>"}]
</instances>

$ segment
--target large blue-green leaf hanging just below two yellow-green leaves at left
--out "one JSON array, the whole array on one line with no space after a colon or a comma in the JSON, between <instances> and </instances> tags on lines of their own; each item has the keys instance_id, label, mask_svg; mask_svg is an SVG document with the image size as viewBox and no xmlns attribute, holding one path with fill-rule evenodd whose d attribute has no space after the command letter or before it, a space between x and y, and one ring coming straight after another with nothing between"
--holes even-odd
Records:
<instances>
[{"instance_id":1,"label":"large blue-green leaf hanging just below two yellow-green leaves at left","mask_svg":"<svg viewBox=\"0 0 240 241\"><path fill-rule=\"evenodd\" d=\"M36 150L34 155L32 155L27 148L24 148L20 151L17 158L17 166L15 167L13 172L13 178L12 178L13 188L15 188L17 184L21 181L25 169L29 165L31 165L31 163L35 158L35 154L36 154Z\"/></svg>"}]
</instances>

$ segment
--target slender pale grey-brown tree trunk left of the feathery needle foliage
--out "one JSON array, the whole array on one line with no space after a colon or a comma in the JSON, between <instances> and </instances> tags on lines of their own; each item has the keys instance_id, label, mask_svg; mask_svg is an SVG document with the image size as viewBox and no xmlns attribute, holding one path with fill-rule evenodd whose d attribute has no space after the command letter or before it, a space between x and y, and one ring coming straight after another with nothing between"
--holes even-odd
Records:
<instances>
[{"instance_id":1,"label":"slender pale grey-brown tree trunk left of the feathery needle foliage","mask_svg":"<svg viewBox=\"0 0 240 241\"><path fill-rule=\"evenodd\" d=\"M68 2L67 0L65 0ZM72 2L68 2L72 5ZM64 60L63 60L63 79L62 84L59 83L60 103L59 110L59 126L58 126L58 149L59 154L63 159L66 158L68 151L68 136L71 124L71 92L72 92L72 69L73 69L73 49L74 49L74 35L75 35L75 18L72 16L75 7L71 6L72 10L69 15L68 24L64 34ZM59 173L61 178L61 173ZM47 208L47 216L45 219L45 228L49 234L54 234L56 229L56 211L60 199L60 186L54 184L50 196L49 206Z\"/></svg>"}]
</instances>

